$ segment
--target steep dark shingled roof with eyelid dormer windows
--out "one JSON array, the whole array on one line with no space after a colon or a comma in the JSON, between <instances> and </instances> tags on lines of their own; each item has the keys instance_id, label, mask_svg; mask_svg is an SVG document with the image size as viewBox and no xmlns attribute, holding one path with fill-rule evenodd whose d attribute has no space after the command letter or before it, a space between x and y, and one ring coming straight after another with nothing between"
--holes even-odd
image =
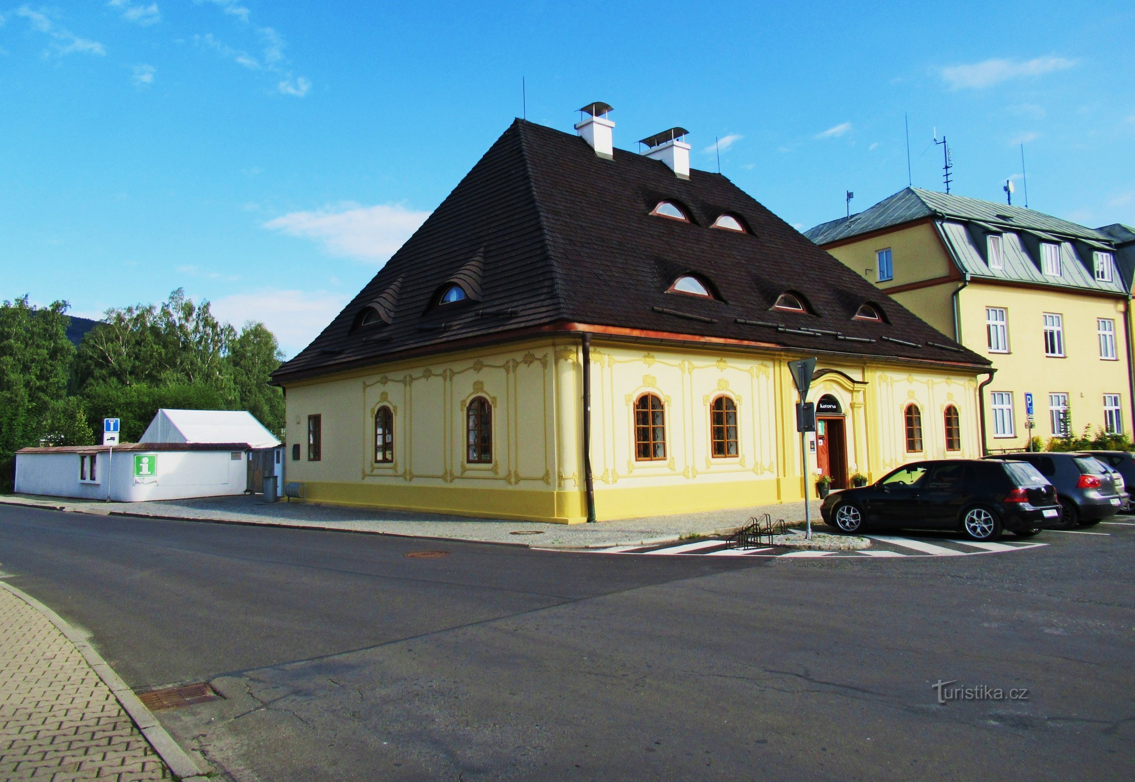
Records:
<instances>
[{"instance_id":1,"label":"steep dark shingled roof with eyelid dormer windows","mask_svg":"<svg viewBox=\"0 0 1135 782\"><path fill-rule=\"evenodd\" d=\"M650 216L664 199L679 203L692 222ZM738 215L754 233L711 229L722 212ZM707 279L720 301L666 293L684 272ZM356 327L362 308L396 280L390 322ZM453 281L466 291L476 281L478 300L434 305ZM785 291L802 295L815 314L771 310ZM852 320L864 302L874 302L889 322ZM518 119L274 378L287 384L569 323L989 364L720 174L691 170L680 179L665 163L624 150L602 159L578 136Z\"/></svg>"}]
</instances>

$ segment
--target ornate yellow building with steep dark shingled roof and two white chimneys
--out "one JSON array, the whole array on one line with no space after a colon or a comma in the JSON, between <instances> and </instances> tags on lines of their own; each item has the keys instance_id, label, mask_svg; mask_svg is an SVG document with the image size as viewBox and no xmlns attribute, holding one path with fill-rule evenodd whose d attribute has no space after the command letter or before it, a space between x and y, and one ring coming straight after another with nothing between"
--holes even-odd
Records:
<instances>
[{"instance_id":1,"label":"ornate yellow building with steep dark shingled roof and two white chimneys","mask_svg":"<svg viewBox=\"0 0 1135 782\"><path fill-rule=\"evenodd\" d=\"M277 371L304 499L574 523L982 454L987 362L690 169L680 128L615 150L604 108L516 120Z\"/></svg>"}]
</instances>

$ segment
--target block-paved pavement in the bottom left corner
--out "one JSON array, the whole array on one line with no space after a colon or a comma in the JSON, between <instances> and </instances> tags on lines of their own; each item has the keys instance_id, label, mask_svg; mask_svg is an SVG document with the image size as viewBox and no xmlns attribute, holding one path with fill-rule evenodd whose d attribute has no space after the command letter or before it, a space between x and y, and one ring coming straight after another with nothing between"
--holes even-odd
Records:
<instances>
[{"instance_id":1,"label":"block-paved pavement in the bottom left corner","mask_svg":"<svg viewBox=\"0 0 1135 782\"><path fill-rule=\"evenodd\" d=\"M168 780L74 644L0 589L0 780Z\"/></svg>"}]
</instances>

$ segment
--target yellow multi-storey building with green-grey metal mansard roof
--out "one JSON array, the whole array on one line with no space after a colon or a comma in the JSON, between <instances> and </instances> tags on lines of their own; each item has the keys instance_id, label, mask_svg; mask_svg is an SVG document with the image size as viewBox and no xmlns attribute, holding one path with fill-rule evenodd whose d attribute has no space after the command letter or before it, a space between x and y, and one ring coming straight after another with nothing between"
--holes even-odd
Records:
<instances>
[{"instance_id":1,"label":"yellow multi-storey building with green-grey metal mansard roof","mask_svg":"<svg viewBox=\"0 0 1135 782\"><path fill-rule=\"evenodd\" d=\"M1023 451L1029 437L1132 431L1128 229L908 187L806 235L992 361L982 394L991 453Z\"/></svg>"}]
</instances>

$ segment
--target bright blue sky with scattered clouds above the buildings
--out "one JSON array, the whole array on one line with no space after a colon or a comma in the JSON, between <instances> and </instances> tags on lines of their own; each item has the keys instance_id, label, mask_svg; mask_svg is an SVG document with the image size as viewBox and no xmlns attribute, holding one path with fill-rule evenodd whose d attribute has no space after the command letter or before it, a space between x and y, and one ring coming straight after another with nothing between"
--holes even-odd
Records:
<instances>
[{"instance_id":1,"label":"bright blue sky with scattered clouds above the buildings","mask_svg":"<svg viewBox=\"0 0 1135 782\"><path fill-rule=\"evenodd\" d=\"M2 0L0 0L2 3ZM907 185L1135 225L1127 2L0 5L0 298L207 297L294 354L521 112L681 125L809 228ZM704 150L708 150L705 151ZM1023 202L1018 188L1015 203Z\"/></svg>"}]
</instances>

